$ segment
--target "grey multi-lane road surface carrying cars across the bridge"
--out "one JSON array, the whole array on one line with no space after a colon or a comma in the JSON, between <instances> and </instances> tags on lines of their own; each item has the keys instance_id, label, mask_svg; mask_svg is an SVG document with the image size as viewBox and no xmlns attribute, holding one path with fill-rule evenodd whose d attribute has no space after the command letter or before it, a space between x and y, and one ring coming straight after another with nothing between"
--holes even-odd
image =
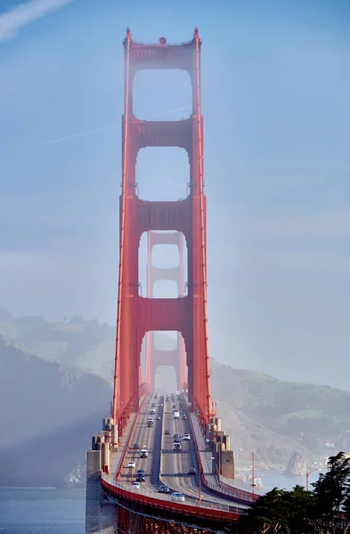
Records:
<instances>
[{"instance_id":1,"label":"grey multi-lane road surface carrying cars across the bridge","mask_svg":"<svg viewBox=\"0 0 350 534\"><path fill-rule=\"evenodd\" d=\"M183 493L188 504L200 498L202 506L231 506L236 507L232 498L218 497L202 486L199 487L199 465L195 452L195 443L191 435L191 425L188 419L183 419L183 414L189 417L186 402L182 400L184 409L179 409L180 401L166 401L165 396L160 395L155 399L150 395L142 404L139 416L134 425L134 432L128 443L128 449L121 469L120 481L126 483L126 489L132 488L132 482L136 478L138 469L145 471L145 481L140 482L140 491L153 498L170 500L169 494L159 493L159 486L164 484L172 491ZM152 407L152 404L155 404ZM180 411L180 418L174 418L173 405ZM156 413L151 415L151 409ZM147 420L153 418L153 427L149 428ZM157 419L159 417L159 419ZM169 430L170 434L165 434ZM173 450L174 434L183 437L184 433L190 434L190 441L181 439L181 452ZM132 449L134 443L138 443L140 449ZM141 449L147 449L149 456L141 457ZM134 460L135 466L128 467L129 461ZM189 475L190 467L196 469L195 475ZM134 488L133 488L134 490ZM248 506L238 505L240 508Z\"/></svg>"}]
</instances>

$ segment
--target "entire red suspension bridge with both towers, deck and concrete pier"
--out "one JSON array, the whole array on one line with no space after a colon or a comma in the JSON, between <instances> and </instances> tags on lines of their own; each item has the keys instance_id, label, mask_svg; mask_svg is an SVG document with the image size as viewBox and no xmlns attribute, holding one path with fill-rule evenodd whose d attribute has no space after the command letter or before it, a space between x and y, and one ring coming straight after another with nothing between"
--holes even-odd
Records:
<instances>
[{"instance_id":1,"label":"entire red suspension bridge with both towers, deck and concrete pier","mask_svg":"<svg viewBox=\"0 0 350 534\"><path fill-rule=\"evenodd\" d=\"M194 534L235 532L255 499L234 486L230 436L211 400L207 310L207 203L200 110L201 40L143 44L124 40L123 177L119 204L118 320L111 417L87 453L86 532ZM191 116L147 121L134 116L133 86L142 69L182 69L191 77ZM186 150L187 198L139 198L136 159L146 147ZM164 169L167 174L167 169ZM166 177L166 176L165 176ZM139 246L148 235L147 295L140 295ZM156 268L152 248L178 248L174 268ZM183 250L187 248L187 264ZM184 288L185 268L187 287ZM155 298L156 280L175 280L177 298ZM173 351L155 347L154 332L177 332ZM142 340L146 366L142 376ZM155 393L159 365L175 368L177 392Z\"/></svg>"}]
</instances>

